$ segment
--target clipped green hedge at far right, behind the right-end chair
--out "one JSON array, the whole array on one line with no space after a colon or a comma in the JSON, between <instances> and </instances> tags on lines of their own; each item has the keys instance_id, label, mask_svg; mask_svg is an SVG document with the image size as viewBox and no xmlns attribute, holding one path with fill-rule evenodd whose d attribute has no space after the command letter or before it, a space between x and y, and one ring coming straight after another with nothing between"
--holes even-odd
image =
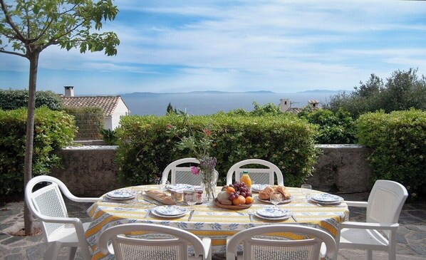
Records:
<instances>
[{"instance_id":1,"label":"clipped green hedge at far right, behind the right-end chair","mask_svg":"<svg viewBox=\"0 0 426 260\"><path fill-rule=\"evenodd\" d=\"M426 112L421 110L366 113L358 118L359 142L368 156L375 180L394 180L412 197L426 194Z\"/></svg>"}]
</instances>

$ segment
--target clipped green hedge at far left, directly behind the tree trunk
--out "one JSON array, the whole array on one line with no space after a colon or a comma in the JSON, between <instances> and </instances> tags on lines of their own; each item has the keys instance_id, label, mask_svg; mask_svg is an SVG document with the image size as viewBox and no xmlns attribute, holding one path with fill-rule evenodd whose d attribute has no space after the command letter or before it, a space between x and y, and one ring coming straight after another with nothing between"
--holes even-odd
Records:
<instances>
[{"instance_id":1,"label":"clipped green hedge at far left, directly behind the tree trunk","mask_svg":"<svg viewBox=\"0 0 426 260\"><path fill-rule=\"evenodd\" d=\"M0 195L19 194L24 188L27 110L0 110ZM70 115L36 108L34 116L33 175L48 175L60 158L54 150L71 144L76 126Z\"/></svg>"}]
</instances>

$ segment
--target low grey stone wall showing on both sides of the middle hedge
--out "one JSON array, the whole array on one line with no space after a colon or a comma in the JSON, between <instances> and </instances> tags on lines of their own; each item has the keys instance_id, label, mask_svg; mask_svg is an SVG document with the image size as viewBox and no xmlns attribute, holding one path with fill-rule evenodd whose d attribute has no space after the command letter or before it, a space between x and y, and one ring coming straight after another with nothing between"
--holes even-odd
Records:
<instances>
[{"instance_id":1,"label":"low grey stone wall showing on both sides of the middle hedge","mask_svg":"<svg viewBox=\"0 0 426 260\"><path fill-rule=\"evenodd\" d=\"M372 171L365 160L368 150L359 145L319 145L323 151L313 176L306 183L327 192L364 192L371 189ZM99 196L117 189L115 146L67 147L58 152L63 169L52 175L79 196ZM286 172L283 172L285 175Z\"/></svg>"}]
</instances>

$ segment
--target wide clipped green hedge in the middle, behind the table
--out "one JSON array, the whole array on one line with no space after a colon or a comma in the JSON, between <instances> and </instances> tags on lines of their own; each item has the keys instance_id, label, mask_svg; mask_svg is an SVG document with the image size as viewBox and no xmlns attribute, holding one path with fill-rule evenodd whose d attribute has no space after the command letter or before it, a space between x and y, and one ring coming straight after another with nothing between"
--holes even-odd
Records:
<instances>
[{"instance_id":1,"label":"wide clipped green hedge in the middle, behind the table","mask_svg":"<svg viewBox=\"0 0 426 260\"><path fill-rule=\"evenodd\" d=\"M121 118L117 130L120 146L117 160L119 179L124 184L147 184L155 181L172 161L193 157L189 150L178 150L177 137L166 132L167 124L183 128L179 115L137 116ZM210 154L217 157L219 184L224 184L227 170L240 160L259 158L277 165L286 185L298 186L306 180L316 162L316 127L295 115L251 117L225 115L191 116L192 130L206 126L214 142Z\"/></svg>"}]
</instances>

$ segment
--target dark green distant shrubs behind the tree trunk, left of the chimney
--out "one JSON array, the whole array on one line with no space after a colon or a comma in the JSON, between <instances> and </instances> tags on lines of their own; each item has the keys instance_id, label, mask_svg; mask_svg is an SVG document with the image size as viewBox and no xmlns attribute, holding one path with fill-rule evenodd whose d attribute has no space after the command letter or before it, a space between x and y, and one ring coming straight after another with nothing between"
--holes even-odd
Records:
<instances>
[{"instance_id":1,"label":"dark green distant shrubs behind the tree trunk, left of the chimney","mask_svg":"<svg viewBox=\"0 0 426 260\"><path fill-rule=\"evenodd\" d=\"M62 100L52 91L36 92L36 108L46 105L51 110L59 110ZM0 89L0 109L14 110L28 107L28 90Z\"/></svg>"}]
</instances>

